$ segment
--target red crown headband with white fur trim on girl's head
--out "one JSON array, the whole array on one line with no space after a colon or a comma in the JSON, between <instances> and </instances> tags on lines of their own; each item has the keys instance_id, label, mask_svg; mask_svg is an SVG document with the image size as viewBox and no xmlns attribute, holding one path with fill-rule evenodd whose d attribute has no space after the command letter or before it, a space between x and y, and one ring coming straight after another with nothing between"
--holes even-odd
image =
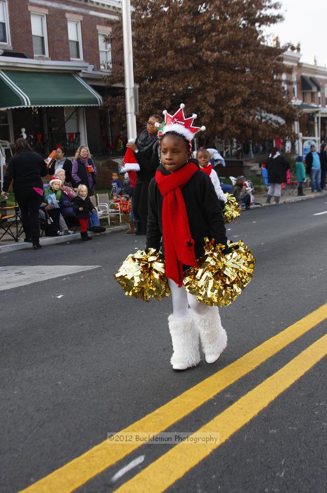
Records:
<instances>
[{"instance_id":1,"label":"red crown headband with white fur trim on girl's head","mask_svg":"<svg viewBox=\"0 0 327 493\"><path fill-rule=\"evenodd\" d=\"M163 111L165 121L162 124L155 123L155 126L158 127L159 140L161 140L167 132L176 132L177 134L185 137L187 141L191 142L200 130L206 130L205 126L193 127L192 124L195 118L197 118L197 115L193 113L193 115L189 118L185 118L183 111L184 107L185 105L181 104L179 109L173 115L170 115L166 109Z\"/></svg>"}]
</instances>

